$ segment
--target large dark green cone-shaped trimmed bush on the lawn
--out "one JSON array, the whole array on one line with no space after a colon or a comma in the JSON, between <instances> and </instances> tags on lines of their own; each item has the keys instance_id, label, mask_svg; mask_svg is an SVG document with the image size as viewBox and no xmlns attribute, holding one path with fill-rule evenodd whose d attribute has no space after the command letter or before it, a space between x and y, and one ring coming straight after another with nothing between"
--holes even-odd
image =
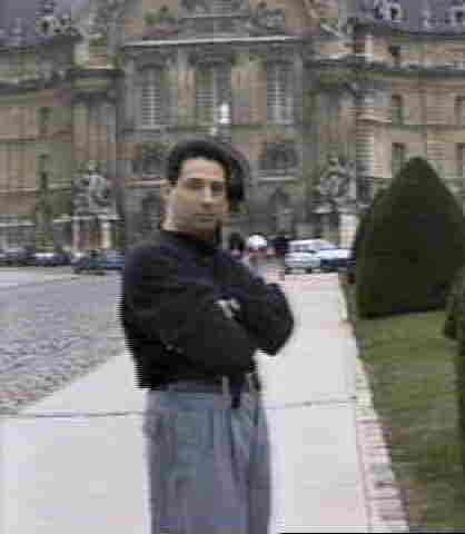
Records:
<instances>
[{"instance_id":1,"label":"large dark green cone-shaped trimmed bush on the lawn","mask_svg":"<svg viewBox=\"0 0 465 534\"><path fill-rule=\"evenodd\" d=\"M464 260L461 207L424 159L410 159L377 202L358 245L359 315L444 307Z\"/></svg>"}]
</instances>

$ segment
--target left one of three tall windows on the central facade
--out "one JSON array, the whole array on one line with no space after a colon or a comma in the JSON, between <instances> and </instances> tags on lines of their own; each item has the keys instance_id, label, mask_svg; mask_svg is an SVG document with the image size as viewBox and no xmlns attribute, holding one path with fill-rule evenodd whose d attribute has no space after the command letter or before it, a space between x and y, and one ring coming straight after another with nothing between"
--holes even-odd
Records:
<instances>
[{"instance_id":1,"label":"left one of three tall windows on the central facade","mask_svg":"<svg viewBox=\"0 0 465 534\"><path fill-rule=\"evenodd\" d=\"M140 119L145 128L168 123L169 93L166 72L161 68L146 68L140 73Z\"/></svg>"}]
</instances>

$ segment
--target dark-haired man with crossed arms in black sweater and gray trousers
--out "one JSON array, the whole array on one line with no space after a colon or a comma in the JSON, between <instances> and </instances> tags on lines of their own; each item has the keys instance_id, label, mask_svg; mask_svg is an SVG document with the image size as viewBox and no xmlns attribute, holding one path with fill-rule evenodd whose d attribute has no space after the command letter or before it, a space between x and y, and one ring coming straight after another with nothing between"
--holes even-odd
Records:
<instances>
[{"instance_id":1,"label":"dark-haired man with crossed arms in black sweater and gray trousers","mask_svg":"<svg viewBox=\"0 0 465 534\"><path fill-rule=\"evenodd\" d=\"M276 354L294 320L279 287L217 247L237 201L210 140L168 157L162 229L126 259L121 318L148 388L151 534L266 534L267 423L254 353Z\"/></svg>"}]
</instances>

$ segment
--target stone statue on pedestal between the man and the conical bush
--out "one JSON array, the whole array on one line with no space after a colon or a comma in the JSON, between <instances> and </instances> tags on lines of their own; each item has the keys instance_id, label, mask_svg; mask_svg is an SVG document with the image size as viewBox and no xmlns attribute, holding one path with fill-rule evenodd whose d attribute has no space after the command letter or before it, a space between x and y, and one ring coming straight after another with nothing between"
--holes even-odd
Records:
<instances>
[{"instance_id":1,"label":"stone statue on pedestal between the man and the conical bush","mask_svg":"<svg viewBox=\"0 0 465 534\"><path fill-rule=\"evenodd\" d=\"M356 178L350 164L344 164L332 154L316 186L318 198L316 212L340 211L357 200Z\"/></svg>"}]
</instances>

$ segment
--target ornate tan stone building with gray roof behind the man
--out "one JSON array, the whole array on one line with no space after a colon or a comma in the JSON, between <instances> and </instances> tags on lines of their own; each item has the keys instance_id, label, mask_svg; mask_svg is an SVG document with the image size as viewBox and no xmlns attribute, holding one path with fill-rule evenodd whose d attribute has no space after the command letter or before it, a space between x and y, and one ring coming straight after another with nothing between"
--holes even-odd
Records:
<instances>
[{"instance_id":1,"label":"ornate tan stone building with gray roof behind the man","mask_svg":"<svg viewBox=\"0 0 465 534\"><path fill-rule=\"evenodd\" d=\"M412 156L462 201L464 24L462 0L2 0L0 248L135 243L192 135L246 170L229 231L347 245Z\"/></svg>"}]
</instances>

